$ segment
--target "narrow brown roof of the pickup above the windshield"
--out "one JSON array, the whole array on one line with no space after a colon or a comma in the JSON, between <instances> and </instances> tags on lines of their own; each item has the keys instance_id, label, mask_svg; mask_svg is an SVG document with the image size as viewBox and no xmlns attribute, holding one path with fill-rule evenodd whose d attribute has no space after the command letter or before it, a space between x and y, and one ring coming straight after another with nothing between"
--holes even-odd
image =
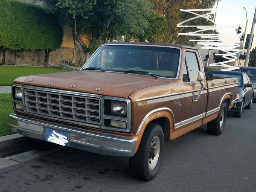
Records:
<instances>
[{"instance_id":1,"label":"narrow brown roof of the pickup above the windshield","mask_svg":"<svg viewBox=\"0 0 256 192\"><path fill-rule=\"evenodd\" d=\"M146 42L111 42L106 43L103 45L116 45L116 44L134 44L134 45L156 45L156 46L169 46L169 47L179 47L179 48L186 48L186 49L195 49L198 50L195 47L190 47L187 45L180 45L180 44L166 44L166 43L146 43Z\"/></svg>"}]
</instances>

